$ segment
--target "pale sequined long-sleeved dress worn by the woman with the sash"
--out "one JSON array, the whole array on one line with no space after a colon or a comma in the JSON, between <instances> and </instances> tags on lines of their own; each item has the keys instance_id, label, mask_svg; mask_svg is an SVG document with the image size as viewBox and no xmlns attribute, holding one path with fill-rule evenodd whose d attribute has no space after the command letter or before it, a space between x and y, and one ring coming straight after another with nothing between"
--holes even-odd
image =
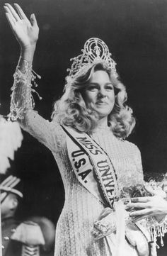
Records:
<instances>
[{"instance_id":1,"label":"pale sequined long-sleeved dress worn by the woman with the sash","mask_svg":"<svg viewBox=\"0 0 167 256\"><path fill-rule=\"evenodd\" d=\"M26 110L21 122L22 128L52 151L64 183L65 201L57 222L54 256L113 255L105 238L95 241L91 235L93 223L98 220L105 205L76 178L67 154L64 130L55 121L46 121L33 111L32 105L27 104L25 96L30 97L30 88L26 87L25 82L20 82L14 90L15 99L19 99L18 106ZM141 156L136 145L119 140L108 129L98 128L91 136L108 152L120 187L143 181ZM132 245L126 243L125 246L129 255L137 256L137 251Z\"/></svg>"}]
</instances>

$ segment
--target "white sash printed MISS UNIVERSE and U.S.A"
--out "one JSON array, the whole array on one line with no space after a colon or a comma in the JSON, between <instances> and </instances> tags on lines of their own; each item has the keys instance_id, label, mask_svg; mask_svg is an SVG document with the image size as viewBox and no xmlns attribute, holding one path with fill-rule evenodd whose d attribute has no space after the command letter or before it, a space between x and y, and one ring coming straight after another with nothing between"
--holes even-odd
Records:
<instances>
[{"instance_id":1,"label":"white sash printed MISS UNIVERSE and U.S.A","mask_svg":"<svg viewBox=\"0 0 167 256\"><path fill-rule=\"evenodd\" d=\"M66 133L69 160L77 179L103 204L113 208L119 189L117 175L107 153L87 133L62 128Z\"/></svg>"}]
</instances>

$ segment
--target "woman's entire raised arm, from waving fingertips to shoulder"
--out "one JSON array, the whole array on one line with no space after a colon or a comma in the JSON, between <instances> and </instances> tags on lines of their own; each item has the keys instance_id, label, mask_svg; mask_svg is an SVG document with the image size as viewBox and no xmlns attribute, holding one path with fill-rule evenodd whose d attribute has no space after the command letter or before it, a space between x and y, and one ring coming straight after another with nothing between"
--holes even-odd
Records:
<instances>
[{"instance_id":1,"label":"woman's entire raised arm, from waving fingertips to shoulder","mask_svg":"<svg viewBox=\"0 0 167 256\"><path fill-rule=\"evenodd\" d=\"M54 150L53 124L33 111L34 101L32 96L35 74L32 71L33 56L38 40L38 23L35 15L31 14L30 21L18 4L5 4L6 18L16 37L21 55L18 60L14 83L11 88L11 120L18 120L24 130L45 144L50 150Z\"/></svg>"}]
</instances>

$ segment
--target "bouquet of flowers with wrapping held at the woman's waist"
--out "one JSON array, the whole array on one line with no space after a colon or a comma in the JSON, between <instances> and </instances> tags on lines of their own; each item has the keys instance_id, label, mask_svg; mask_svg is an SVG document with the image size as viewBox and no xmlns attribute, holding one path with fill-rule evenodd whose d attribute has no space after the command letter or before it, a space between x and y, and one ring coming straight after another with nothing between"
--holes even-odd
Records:
<instances>
[{"instance_id":1,"label":"bouquet of flowers with wrapping held at the woman's waist","mask_svg":"<svg viewBox=\"0 0 167 256\"><path fill-rule=\"evenodd\" d=\"M129 227L128 232L129 232L130 226L133 229L135 226L134 223L139 220L139 218L136 216L135 217L129 216L129 213L132 211L137 211L139 210L139 208L129 207L129 206L126 207L126 205L131 202L132 198L152 196L153 194L147 191L146 187L151 187L152 190L159 192L159 194L163 194L163 193L165 194L164 192L165 184L166 184L166 177L165 175L163 175L163 177L161 177L161 179L159 179L158 182L156 182L154 179L149 179L148 182L143 182L142 184L136 184L130 187L123 187L120 190L120 196L118 197L118 201L122 201L122 203L125 205L125 213L124 213L125 226L127 228ZM167 187L167 184L166 184L166 187ZM117 228L116 222L117 222L117 219L115 216L115 211L113 211L111 208L105 208L103 212L100 214L98 221L94 223L94 226L92 229L93 237L97 240L99 238L103 238L106 235L110 235L111 233L115 233ZM153 227L154 227L154 231L159 230L159 223L155 222L154 218L152 217L142 219L141 223L148 232L151 232L153 230ZM132 232L129 232L129 234L130 233ZM159 232L157 235L161 236ZM155 236L155 232L153 236Z\"/></svg>"}]
</instances>

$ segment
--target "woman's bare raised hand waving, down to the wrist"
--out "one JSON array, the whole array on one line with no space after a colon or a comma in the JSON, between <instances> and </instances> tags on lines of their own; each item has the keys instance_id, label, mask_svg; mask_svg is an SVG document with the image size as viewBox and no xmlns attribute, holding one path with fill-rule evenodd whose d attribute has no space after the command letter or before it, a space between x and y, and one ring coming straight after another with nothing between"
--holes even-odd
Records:
<instances>
[{"instance_id":1,"label":"woman's bare raised hand waving, down to the wrist","mask_svg":"<svg viewBox=\"0 0 167 256\"><path fill-rule=\"evenodd\" d=\"M13 9L11 4L5 4L4 6L6 18L11 26L11 30L16 36L19 45L21 45L22 50L34 48L39 34L38 23L35 15L31 14L29 21L21 9L21 6L18 4L14 4L14 6L16 10Z\"/></svg>"}]
</instances>

